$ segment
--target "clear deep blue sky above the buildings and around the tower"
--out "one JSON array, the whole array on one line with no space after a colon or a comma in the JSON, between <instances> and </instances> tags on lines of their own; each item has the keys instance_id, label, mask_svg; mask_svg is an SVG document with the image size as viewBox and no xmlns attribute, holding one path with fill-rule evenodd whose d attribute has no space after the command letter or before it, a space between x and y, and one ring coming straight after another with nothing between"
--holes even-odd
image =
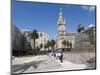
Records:
<instances>
[{"instance_id":1,"label":"clear deep blue sky above the buildings and around the tower","mask_svg":"<svg viewBox=\"0 0 100 75\"><path fill-rule=\"evenodd\" d=\"M77 32L78 24L95 25L95 6L12 1L12 23L21 29L46 32L50 39L57 37L57 20L62 8L66 32Z\"/></svg>"}]
</instances>

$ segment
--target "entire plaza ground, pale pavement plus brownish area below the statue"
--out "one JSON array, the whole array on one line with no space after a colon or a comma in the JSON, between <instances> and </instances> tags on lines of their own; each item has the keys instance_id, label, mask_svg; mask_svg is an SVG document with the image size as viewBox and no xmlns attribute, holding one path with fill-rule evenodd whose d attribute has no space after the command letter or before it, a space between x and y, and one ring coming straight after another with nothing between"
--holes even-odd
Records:
<instances>
[{"instance_id":1,"label":"entire plaza ground, pale pavement plus brownish area below the statue","mask_svg":"<svg viewBox=\"0 0 100 75\"><path fill-rule=\"evenodd\" d=\"M12 60L12 73L30 73L95 68L95 53L64 53L63 62L53 56L38 55L16 57ZM92 59L91 59L92 58ZM91 63L86 61L93 60ZM91 62L91 61L90 61Z\"/></svg>"}]
</instances>

